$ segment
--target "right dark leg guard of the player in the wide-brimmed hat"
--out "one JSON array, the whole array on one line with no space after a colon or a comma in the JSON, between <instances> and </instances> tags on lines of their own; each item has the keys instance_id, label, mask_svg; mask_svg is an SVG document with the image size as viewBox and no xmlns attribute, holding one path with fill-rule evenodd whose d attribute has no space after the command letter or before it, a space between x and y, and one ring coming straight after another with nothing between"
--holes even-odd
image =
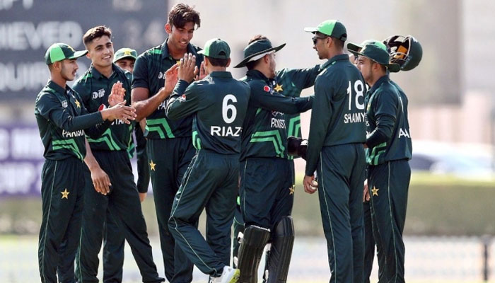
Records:
<instances>
[{"instance_id":1,"label":"right dark leg guard of the player in the wide-brimmed hat","mask_svg":"<svg viewBox=\"0 0 495 283\"><path fill-rule=\"evenodd\" d=\"M263 282L285 283L291 263L294 244L294 224L292 216L284 216L276 224L272 233L272 244L267 250L267 262L264 267Z\"/></svg>"}]
</instances>

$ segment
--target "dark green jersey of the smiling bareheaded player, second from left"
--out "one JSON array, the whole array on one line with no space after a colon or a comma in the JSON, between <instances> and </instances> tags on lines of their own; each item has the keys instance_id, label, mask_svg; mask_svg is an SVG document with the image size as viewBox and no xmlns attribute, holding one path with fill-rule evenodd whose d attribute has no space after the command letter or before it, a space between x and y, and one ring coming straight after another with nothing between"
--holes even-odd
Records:
<instances>
[{"instance_id":1,"label":"dark green jersey of the smiling bareheaded player, second from left","mask_svg":"<svg viewBox=\"0 0 495 283\"><path fill-rule=\"evenodd\" d=\"M98 112L108 108L108 96L112 91L112 86L117 81L122 83L125 89L126 105L131 105L131 80L132 74L129 71L120 69L116 64L112 64L113 72L110 78L100 74L91 67L74 83L72 88L79 93L83 104L88 112ZM97 139L88 137L91 150L97 151L118 151L127 150L132 134L132 124L127 125L122 120L115 120L112 125Z\"/></svg>"}]
</instances>

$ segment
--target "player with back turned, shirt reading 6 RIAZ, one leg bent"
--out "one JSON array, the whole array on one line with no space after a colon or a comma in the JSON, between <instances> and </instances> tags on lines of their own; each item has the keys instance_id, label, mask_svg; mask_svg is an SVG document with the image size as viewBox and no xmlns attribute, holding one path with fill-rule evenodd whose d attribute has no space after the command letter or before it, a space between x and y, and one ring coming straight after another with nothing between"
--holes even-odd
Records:
<instances>
[{"instance_id":1,"label":"player with back turned, shirt reading 6 RIAZ, one leg bent","mask_svg":"<svg viewBox=\"0 0 495 283\"><path fill-rule=\"evenodd\" d=\"M170 119L193 116L196 149L175 195L168 226L176 243L199 270L210 275L211 282L237 282L239 270L229 267L231 226L250 88L227 71L231 63L227 42L208 40L199 53L204 54L208 76L192 83L194 57L185 57L178 71L180 81L167 106ZM205 208L206 241L196 227Z\"/></svg>"}]
</instances>

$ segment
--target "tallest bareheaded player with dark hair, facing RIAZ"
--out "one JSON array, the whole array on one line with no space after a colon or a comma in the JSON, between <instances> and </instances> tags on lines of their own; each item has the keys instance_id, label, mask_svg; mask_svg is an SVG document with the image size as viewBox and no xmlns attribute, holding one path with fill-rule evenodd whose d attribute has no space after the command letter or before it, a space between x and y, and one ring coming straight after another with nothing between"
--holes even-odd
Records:
<instances>
[{"instance_id":1,"label":"tallest bareheaded player with dark hair, facing RIAZ","mask_svg":"<svg viewBox=\"0 0 495 283\"><path fill-rule=\"evenodd\" d=\"M192 262L175 245L168 229L168 219L175 193L195 151L191 139L192 117L170 120L165 116L167 96L163 86L166 83L165 72L184 54L192 53L197 67L201 67L203 56L197 54L199 48L190 43L200 24L199 13L191 6L173 6L165 24L168 38L139 55L132 80L132 105L136 108L137 120L146 118L149 130L146 149L165 277L173 283L192 281Z\"/></svg>"}]
</instances>

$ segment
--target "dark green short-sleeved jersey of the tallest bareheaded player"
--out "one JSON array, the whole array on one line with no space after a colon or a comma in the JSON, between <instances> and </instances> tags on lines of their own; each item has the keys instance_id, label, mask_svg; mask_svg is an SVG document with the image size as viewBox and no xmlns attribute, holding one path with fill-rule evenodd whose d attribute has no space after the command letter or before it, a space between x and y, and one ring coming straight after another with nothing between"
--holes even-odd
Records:
<instances>
[{"instance_id":1,"label":"dark green short-sleeved jersey of the tallest bareheaded player","mask_svg":"<svg viewBox=\"0 0 495 283\"><path fill-rule=\"evenodd\" d=\"M173 58L168 52L168 39L161 45L146 50L139 55L134 64L132 88L148 88L149 95L154 96L160 88L165 86L165 71L170 69L180 58ZM197 54L201 48L192 44L187 45L187 52L196 56L196 65L199 68L203 55ZM164 100L158 108L146 117L148 125L148 139L173 139L174 137L191 137L192 117L181 120L169 120L165 116Z\"/></svg>"}]
</instances>

